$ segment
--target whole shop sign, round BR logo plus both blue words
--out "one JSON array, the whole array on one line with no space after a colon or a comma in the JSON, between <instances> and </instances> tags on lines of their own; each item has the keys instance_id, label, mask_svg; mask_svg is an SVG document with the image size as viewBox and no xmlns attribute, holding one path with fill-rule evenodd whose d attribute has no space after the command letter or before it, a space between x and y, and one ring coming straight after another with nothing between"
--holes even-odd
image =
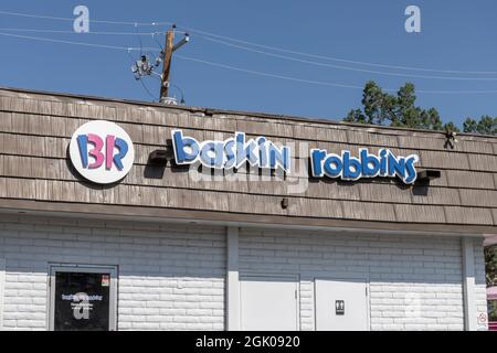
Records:
<instances>
[{"instance_id":1,"label":"whole shop sign, round BR logo plus both blue words","mask_svg":"<svg viewBox=\"0 0 497 353\"><path fill-rule=\"evenodd\" d=\"M230 170L245 163L261 169L281 169L292 173L292 149L277 146L264 136L247 138L245 132L235 131L225 140L199 141L186 136L181 129L171 130L175 162ZM415 182L417 154L395 156L389 149L377 154L367 148L359 149L359 156L348 150L339 154L311 149L310 174L313 178L331 178L356 181L362 178L399 178L405 184ZM109 184L121 180L133 167L135 149L126 131L114 122L89 121L73 135L70 157L74 168L85 179Z\"/></svg>"}]
</instances>

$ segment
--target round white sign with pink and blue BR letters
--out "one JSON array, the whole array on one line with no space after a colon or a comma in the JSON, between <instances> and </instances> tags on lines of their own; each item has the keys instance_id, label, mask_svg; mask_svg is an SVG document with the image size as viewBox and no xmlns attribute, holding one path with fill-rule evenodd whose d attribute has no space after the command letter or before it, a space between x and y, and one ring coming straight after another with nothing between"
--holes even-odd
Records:
<instances>
[{"instance_id":1,"label":"round white sign with pink and blue BR letters","mask_svg":"<svg viewBox=\"0 0 497 353\"><path fill-rule=\"evenodd\" d=\"M70 157L83 178L98 184L109 184L129 172L135 149L123 128L110 121L95 120L82 125L74 132Z\"/></svg>"}]
</instances>

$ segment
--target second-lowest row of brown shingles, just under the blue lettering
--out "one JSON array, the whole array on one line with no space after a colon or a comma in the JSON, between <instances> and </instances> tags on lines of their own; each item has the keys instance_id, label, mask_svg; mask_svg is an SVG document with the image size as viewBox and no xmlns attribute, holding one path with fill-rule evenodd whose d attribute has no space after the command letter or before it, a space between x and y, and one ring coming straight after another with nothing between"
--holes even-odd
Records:
<instances>
[{"instance_id":1,"label":"second-lowest row of brown shingles, just under the blue lettering","mask_svg":"<svg viewBox=\"0 0 497 353\"><path fill-rule=\"evenodd\" d=\"M0 154L0 176L34 178L76 181L77 174L66 159ZM229 173L191 175L188 171L175 171L166 167L135 164L123 184L158 188L194 189L201 191L226 191L252 194L292 195L309 199L332 199L383 203L413 203L436 205L496 206L496 190L457 189L440 186L405 186L393 182L346 182L282 178L257 174ZM299 188L303 185L304 189ZM300 191L302 190L302 191Z\"/></svg>"}]
</instances>

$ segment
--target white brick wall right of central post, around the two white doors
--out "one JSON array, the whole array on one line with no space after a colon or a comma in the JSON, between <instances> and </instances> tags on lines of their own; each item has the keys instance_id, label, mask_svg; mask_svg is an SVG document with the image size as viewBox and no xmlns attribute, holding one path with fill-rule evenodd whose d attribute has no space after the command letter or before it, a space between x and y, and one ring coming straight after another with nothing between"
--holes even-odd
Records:
<instances>
[{"instance_id":1,"label":"white brick wall right of central post, around the two white doors","mask_svg":"<svg viewBox=\"0 0 497 353\"><path fill-rule=\"evenodd\" d=\"M480 240L475 240L479 244ZM482 284L478 253L477 284ZM368 278L372 330L463 330L461 238L242 229L240 276L299 275L300 328L314 330L314 279ZM479 286L478 309L486 304Z\"/></svg>"}]
</instances>

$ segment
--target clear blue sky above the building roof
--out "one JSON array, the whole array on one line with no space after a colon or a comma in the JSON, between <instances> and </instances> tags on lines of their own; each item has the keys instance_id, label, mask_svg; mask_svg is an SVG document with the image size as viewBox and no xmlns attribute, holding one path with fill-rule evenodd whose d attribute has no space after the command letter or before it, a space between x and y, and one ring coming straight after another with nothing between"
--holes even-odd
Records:
<instances>
[{"instance_id":1,"label":"clear blue sky above the building roof","mask_svg":"<svg viewBox=\"0 0 497 353\"><path fill-rule=\"evenodd\" d=\"M184 28L328 57L441 71L497 72L495 0L479 0L477 4L468 0L3 0L0 11L73 18L73 9L78 4L88 7L91 21L171 21ZM421 33L406 33L404 30L404 9L409 4L421 9ZM72 26L71 21L0 13L0 33L120 47L139 46L137 35L6 30L72 31ZM167 28L91 22L92 32L149 33ZM139 38L144 46L158 47L151 35ZM159 41L162 42L163 38ZM151 100L133 77L127 51L3 35L0 35L0 45L1 86ZM422 90L497 90L497 73L402 71L272 52L320 63L316 65L215 43L194 32L191 33L191 42L177 53L247 71L311 82L362 87L368 79L374 79L384 88L396 89L409 81ZM139 52L131 52L131 55L138 57ZM326 65L347 66L349 69ZM357 69L380 71L389 75ZM433 79L398 75L484 79ZM212 108L341 119L349 109L360 107L361 100L361 89L261 76L182 58L173 60L171 79L183 90L188 105ZM158 81L149 78L146 84L157 96ZM417 104L426 108L436 107L444 121L453 120L458 125L467 116L497 116L497 93L419 93Z\"/></svg>"}]
</instances>

